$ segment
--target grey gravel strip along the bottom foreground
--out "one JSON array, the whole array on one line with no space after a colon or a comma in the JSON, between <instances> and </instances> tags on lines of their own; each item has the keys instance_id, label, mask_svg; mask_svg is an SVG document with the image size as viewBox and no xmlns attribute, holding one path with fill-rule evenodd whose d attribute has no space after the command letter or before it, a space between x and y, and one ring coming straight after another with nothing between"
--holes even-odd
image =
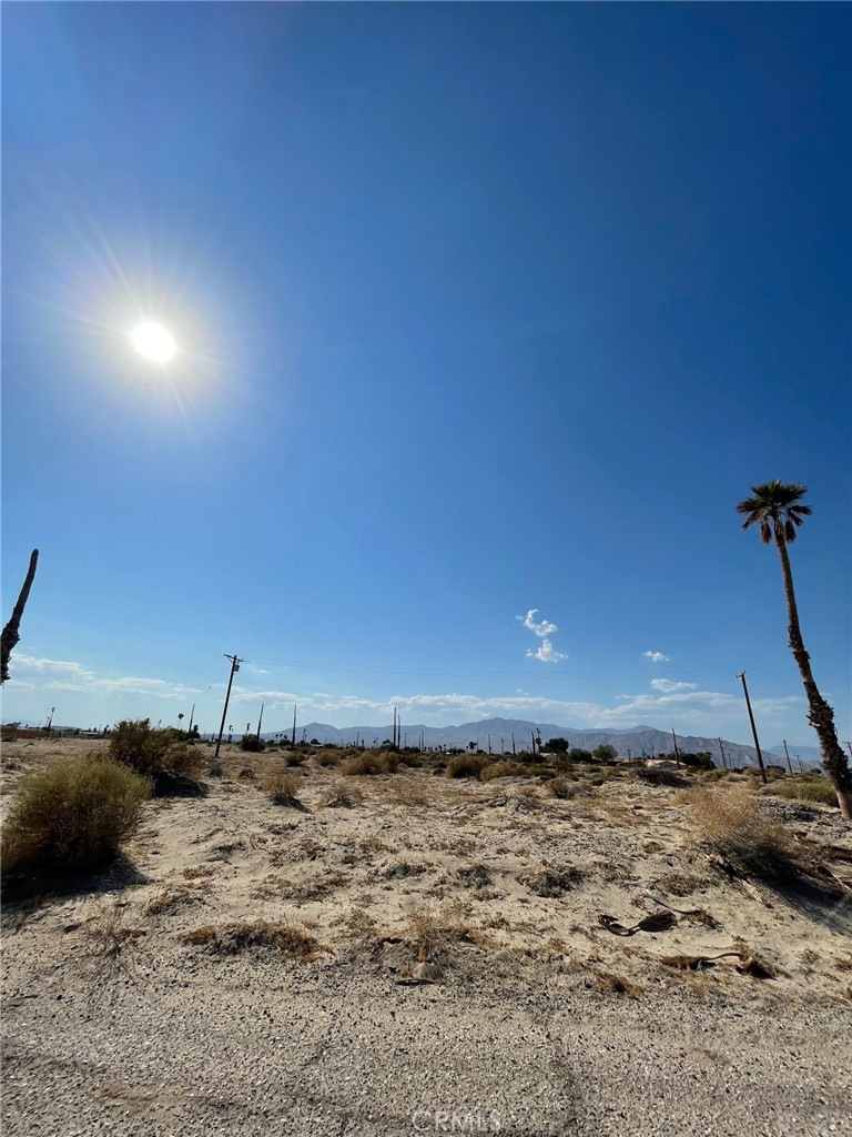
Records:
<instances>
[{"instance_id":1,"label":"grey gravel strip along the bottom foreground","mask_svg":"<svg viewBox=\"0 0 852 1137\"><path fill-rule=\"evenodd\" d=\"M852 1131L852 1006L516 972L164 961L7 989L6 1137L822 1137Z\"/></svg>"}]
</instances>

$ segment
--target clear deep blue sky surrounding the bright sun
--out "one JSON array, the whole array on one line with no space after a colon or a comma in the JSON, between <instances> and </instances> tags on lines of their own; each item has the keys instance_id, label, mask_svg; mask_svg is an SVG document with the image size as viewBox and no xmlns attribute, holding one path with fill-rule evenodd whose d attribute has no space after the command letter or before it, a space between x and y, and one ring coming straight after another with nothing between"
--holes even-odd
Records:
<instances>
[{"instance_id":1,"label":"clear deep blue sky surrounding the bright sun","mask_svg":"<svg viewBox=\"0 0 852 1137\"><path fill-rule=\"evenodd\" d=\"M6 5L5 719L852 737L851 23Z\"/></svg>"}]
</instances>

